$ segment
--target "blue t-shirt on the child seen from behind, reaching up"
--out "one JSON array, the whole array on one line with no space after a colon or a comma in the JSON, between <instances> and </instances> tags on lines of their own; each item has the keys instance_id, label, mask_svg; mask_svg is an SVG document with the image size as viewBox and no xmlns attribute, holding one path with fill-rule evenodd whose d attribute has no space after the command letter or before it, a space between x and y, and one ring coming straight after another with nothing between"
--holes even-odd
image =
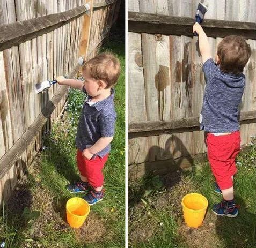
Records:
<instances>
[{"instance_id":1,"label":"blue t-shirt on the child seen from behind, reaching up","mask_svg":"<svg viewBox=\"0 0 256 248\"><path fill-rule=\"evenodd\" d=\"M238 106L244 93L245 75L222 72L212 58L204 62L203 72L206 88L200 129L211 133L238 131Z\"/></svg>"}]
</instances>

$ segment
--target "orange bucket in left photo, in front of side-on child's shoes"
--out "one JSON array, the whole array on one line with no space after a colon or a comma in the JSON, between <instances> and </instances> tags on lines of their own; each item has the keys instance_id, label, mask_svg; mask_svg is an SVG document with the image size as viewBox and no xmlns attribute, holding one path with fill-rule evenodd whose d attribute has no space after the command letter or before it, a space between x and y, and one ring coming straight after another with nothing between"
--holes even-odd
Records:
<instances>
[{"instance_id":1,"label":"orange bucket in left photo, in front of side-on child's shoes","mask_svg":"<svg viewBox=\"0 0 256 248\"><path fill-rule=\"evenodd\" d=\"M66 212L69 226L79 228L90 212L90 205L82 198L73 197L67 201Z\"/></svg>"}]
</instances>

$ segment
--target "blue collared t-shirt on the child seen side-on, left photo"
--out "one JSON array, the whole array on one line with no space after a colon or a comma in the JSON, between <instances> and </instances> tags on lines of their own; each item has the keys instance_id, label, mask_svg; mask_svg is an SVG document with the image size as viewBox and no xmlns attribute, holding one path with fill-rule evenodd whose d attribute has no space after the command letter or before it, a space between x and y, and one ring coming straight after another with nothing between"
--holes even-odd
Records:
<instances>
[{"instance_id":1,"label":"blue collared t-shirt on the child seen side-on, left photo","mask_svg":"<svg viewBox=\"0 0 256 248\"><path fill-rule=\"evenodd\" d=\"M83 91L86 94L84 87ZM101 137L114 136L116 119L114 94L114 89L111 89L110 96L93 105L89 104L91 96L87 96L77 127L76 146L80 151L94 145ZM109 144L94 156L104 157L110 149Z\"/></svg>"}]
</instances>

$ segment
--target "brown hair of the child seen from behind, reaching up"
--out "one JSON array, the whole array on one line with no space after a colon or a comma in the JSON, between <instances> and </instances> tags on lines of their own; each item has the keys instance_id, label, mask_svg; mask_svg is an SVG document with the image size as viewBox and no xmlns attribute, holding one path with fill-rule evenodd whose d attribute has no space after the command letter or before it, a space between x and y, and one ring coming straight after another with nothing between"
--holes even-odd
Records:
<instances>
[{"instance_id":1,"label":"brown hair of the child seen from behind, reaching up","mask_svg":"<svg viewBox=\"0 0 256 248\"><path fill-rule=\"evenodd\" d=\"M217 55L223 72L242 73L251 54L251 47L242 36L229 35L218 44Z\"/></svg>"}]
</instances>

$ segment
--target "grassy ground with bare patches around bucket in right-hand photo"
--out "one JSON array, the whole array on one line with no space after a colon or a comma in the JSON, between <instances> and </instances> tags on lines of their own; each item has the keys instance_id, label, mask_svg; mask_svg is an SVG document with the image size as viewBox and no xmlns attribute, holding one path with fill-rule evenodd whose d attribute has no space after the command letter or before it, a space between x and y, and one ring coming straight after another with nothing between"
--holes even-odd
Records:
<instances>
[{"instance_id":1,"label":"grassy ground with bare patches around bucket in right-hand photo","mask_svg":"<svg viewBox=\"0 0 256 248\"><path fill-rule=\"evenodd\" d=\"M151 191L153 175L129 182L129 246L130 247L218 247L252 248L256 246L256 140L237 158L238 173L234 179L235 199L239 215L235 219L217 217L210 208L222 196L213 190L214 178L208 163L195 164L194 169L174 172L159 178L163 186ZM166 180L179 178L172 187ZM151 178L151 180L150 180ZM154 179L155 178L155 179ZM209 201L203 225L197 229L184 223L181 199L198 192Z\"/></svg>"}]
</instances>

